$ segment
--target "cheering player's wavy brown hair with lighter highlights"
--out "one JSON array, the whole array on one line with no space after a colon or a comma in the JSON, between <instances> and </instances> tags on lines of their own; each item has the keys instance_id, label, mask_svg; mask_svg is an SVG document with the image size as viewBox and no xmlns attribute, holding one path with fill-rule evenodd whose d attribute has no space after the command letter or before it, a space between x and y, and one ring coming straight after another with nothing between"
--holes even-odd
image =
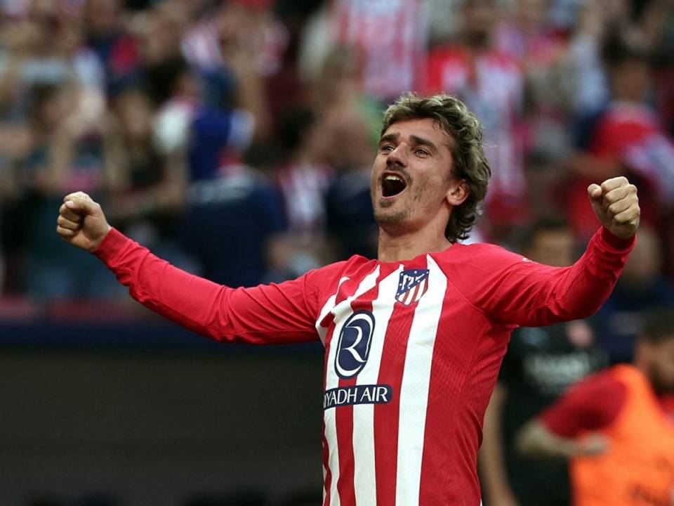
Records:
<instances>
[{"instance_id":1,"label":"cheering player's wavy brown hair with lighter highlights","mask_svg":"<svg viewBox=\"0 0 674 506\"><path fill-rule=\"evenodd\" d=\"M468 184L468 198L451 210L444 235L451 242L466 239L482 214L491 169L482 149L482 124L458 98L440 93L420 97L406 93L384 113L381 135L389 126L406 119L433 119L451 139L452 176Z\"/></svg>"}]
</instances>

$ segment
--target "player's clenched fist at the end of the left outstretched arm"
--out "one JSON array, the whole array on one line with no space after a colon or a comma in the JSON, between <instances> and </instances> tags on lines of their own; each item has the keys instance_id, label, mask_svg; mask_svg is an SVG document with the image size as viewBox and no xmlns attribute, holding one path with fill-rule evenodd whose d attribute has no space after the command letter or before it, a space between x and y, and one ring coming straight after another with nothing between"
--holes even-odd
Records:
<instances>
[{"instance_id":1,"label":"player's clenched fist at the end of the left outstretched arm","mask_svg":"<svg viewBox=\"0 0 674 506\"><path fill-rule=\"evenodd\" d=\"M96 249L112 228L100 205L83 192L65 196L56 223L58 235L88 252Z\"/></svg>"}]
</instances>

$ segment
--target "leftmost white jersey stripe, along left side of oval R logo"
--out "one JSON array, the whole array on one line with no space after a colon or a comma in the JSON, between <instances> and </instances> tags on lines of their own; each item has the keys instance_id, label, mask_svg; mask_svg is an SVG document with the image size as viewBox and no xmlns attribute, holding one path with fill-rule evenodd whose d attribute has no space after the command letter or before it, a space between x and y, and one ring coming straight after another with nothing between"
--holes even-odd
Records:
<instances>
[{"instance_id":1,"label":"leftmost white jersey stripe, along left side of oval R logo","mask_svg":"<svg viewBox=\"0 0 674 506\"><path fill-rule=\"evenodd\" d=\"M338 312L338 308L341 306L350 306L351 301L356 297L364 294L371 288L374 288L377 284L377 278L379 277L379 266L366 275L363 280L358 285L358 288L355 294L347 297L345 300L341 301L336 306L331 308L333 313ZM334 296L336 299L336 295ZM333 300L334 304L334 300ZM326 312L327 314L327 312ZM350 314L350 311L348 311ZM339 377L335 372L333 363L335 363L335 355L337 353L336 340L338 339L339 333L342 330L342 325L346 322L348 314L345 318L342 318L341 322L335 321L335 328L333 330L332 336L333 341L330 343L330 348L328 351L328 361L326 362L326 371L325 371L325 389L332 389L339 386ZM328 467L331 472L330 480L330 506L339 506L339 494L337 492L337 481L339 479L339 455L337 450L337 424L336 424L336 408L331 408L324 410L323 420L325 424L325 440L328 442Z\"/></svg>"}]
</instances>

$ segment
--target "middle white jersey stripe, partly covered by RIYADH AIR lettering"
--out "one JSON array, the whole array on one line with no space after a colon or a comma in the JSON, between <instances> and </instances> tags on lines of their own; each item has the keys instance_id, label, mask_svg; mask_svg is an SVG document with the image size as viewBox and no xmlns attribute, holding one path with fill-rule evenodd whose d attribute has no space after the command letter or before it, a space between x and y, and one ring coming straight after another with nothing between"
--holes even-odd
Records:
<instances>
[{"instance_id":1,"label":"middle white jersey stripe, partly covered by RIYADH AIR lettering","mask_svg":"<svg viewBox=\"0 0 674 506\"><path fill-rule=\"evenodd\" d=\"M402 265L379 282L379 293L372 301L376 323L372 335L367 365L359 372L356 384L376 384L384 349L384 337L393 312L393 301ZM353 406L354 487L358 506L375 506L377 484L374 465L374 404Z\"/></svg>"}]
</instances>

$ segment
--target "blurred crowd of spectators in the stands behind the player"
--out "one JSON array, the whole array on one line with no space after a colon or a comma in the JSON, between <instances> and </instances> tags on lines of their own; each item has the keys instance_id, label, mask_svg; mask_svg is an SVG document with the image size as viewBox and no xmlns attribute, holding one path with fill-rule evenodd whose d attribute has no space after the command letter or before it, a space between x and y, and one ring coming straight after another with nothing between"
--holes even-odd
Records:
<instances>
[{"instance_id":1,"label":"blurred crowd of spectators in the stands behind the player","mask_svg":"<svg viewBox=\"0 0 674 506\"><path fill-rule=\"evenodd\" d=\"M631 361L645 311L674 304L672 0L0 0L0 23L0 300L124 297L55 233L74 190L231 286L375 257L381 112L444 91L493 171L471 240L568 264L597 228L588 184L640 192L614 294L549 331L574 360L530 360L524 332L503 382L555 396Z\"/></svg>"}]
</instances>

